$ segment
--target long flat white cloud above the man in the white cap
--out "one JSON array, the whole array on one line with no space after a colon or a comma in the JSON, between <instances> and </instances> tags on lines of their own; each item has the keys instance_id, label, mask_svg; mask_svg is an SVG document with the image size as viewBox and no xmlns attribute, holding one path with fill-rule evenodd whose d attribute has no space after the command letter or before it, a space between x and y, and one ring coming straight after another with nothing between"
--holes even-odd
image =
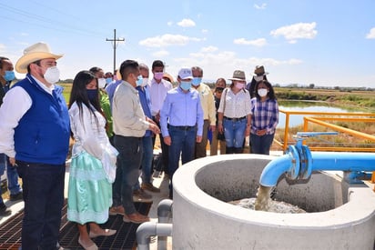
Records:
<instances>
[{"instance_id":1,"label":"long flat white cloud above the man in the white cap","mask_svg":"<svg viewBox=\"0 0 375 250\"><path fill-rule=\"evenodd\" d=\"M170 45L187 45L189 41L199 42L202 39L197 37L188 37L186 35L157 35L154 37L148 37L144 40L139 41L139 45L147 47L163 47Z\"/></svg>"}]
</instances>

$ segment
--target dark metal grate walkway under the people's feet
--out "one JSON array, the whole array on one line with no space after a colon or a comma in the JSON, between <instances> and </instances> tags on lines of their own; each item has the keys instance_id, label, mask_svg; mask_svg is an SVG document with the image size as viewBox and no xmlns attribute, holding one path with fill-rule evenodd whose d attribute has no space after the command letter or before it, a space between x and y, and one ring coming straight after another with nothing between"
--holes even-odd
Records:
<instances>
[{"instance_id":1,"label":"dark metal grate walkway under the people's feet","mask_svg":"<svg viewBox=\"0 0 375 250\"><path fill-rule=\"evenodd\" d=\"M148 215L152 203L135 203L137 211ZM66 202L61 217L59 243L67 249L83 249L78 244L78 229L75 223L67 221ZM18 249L21 246L21 228L23 210L10 217L0 226L0 249ZM97 237L93 239L99 249L136 249L137 247L137 224L124 223L121 215L109 216L103 228L116 229L117 234L109 237Z\"/></svg>"}]
</instances>

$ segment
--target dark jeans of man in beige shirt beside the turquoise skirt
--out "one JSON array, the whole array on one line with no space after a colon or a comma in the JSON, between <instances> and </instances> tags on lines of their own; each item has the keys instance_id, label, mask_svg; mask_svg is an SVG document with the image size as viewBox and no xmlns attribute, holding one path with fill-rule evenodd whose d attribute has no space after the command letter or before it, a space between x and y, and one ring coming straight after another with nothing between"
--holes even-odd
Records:
<instances>
[{"instance_id":1,"label":"dark jeans of man in beige shirt beside the turquoise skirt","mask_svg":"<svg viewBox=\"0 0 375 250\"><path fill-rule=\"evenodd\" d=\"M142 137L115 135L117 155L116 179L112 185L113 206L123 205L127 215L136 213L133 203L133 186L138 181L141 164Z\"/></svg>"}]
</instances>

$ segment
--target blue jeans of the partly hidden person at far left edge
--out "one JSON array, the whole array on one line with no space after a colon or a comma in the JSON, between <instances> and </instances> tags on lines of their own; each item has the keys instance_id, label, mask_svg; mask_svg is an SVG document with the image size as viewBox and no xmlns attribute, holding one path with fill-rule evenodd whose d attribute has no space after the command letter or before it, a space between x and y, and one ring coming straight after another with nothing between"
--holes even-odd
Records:
<instances>
[{"instance_id":1,"label":"blue jeans of the partly hidden person at far left edge","mask_svg":"<svg viewBox=\"0 0 375 250\"><path fill-rule=\"evenodd\" d=\"M18 173L15 166L11 165L9 162L9 157L5 154L0 154L0 176L4 175L6 167L6 179L8 184L8 189L11 195L16 195L22 192L21 186L18 183ZM0 204L4 203L3 198L0 195Z\"/></svg>"}]
</instances>

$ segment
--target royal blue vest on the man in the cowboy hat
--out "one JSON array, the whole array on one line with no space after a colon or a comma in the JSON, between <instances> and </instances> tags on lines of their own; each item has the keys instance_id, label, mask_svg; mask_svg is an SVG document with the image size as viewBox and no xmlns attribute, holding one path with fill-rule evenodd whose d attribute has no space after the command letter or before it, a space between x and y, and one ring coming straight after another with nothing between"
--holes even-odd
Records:
<instances>
[{"instance_id":1,"label":"royal blue vest on the man in the cowboy hat","mask_svg":"<svg viewBox=\"0 0 375 250\"><path fill-rule=\"evenodd\" d=\"M29 163L65 164L70 125L63 87L56 85L53 95L50 95L29 74L15 86L24 88L32 99L30 109L15 127L15 159Z\"/></svg>"}]
</instances>

